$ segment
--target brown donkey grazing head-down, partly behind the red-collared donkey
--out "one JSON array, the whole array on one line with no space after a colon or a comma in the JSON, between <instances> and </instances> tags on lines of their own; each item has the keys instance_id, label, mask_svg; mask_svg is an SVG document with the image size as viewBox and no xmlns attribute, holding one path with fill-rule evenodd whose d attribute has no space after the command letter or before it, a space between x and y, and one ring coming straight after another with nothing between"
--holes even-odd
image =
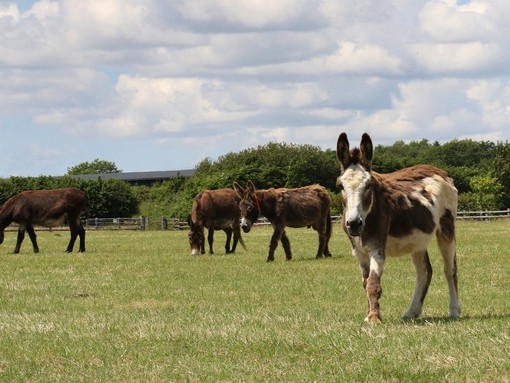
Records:
<instances>
[{"instance_id":1,"label":"brown donkey grazing head-down, partly behind the red-collared donkey","mask_svg":"<svg viewBox=\"0 0 510 383\"><path fill-rule=\"evenodd\" d=\"M239 241L243 248L241 229L239 228L239 199L232 189L203 190L195 196L191 214L188 216L190 232L188 234L191 255L205 253L204 227L207 227L209 253L213 252L214 230L223 230L227 234L225 251L227 254L236 250ZM234 243L230 241L234 234Z\"/></svg>"}]
</instances>

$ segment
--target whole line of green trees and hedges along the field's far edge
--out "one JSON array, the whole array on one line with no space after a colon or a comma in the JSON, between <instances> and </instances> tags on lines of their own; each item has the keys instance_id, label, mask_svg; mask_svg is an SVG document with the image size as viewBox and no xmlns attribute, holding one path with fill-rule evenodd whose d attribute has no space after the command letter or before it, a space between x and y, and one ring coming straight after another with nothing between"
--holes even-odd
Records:
<instances>
[{"instance_id":1,"label":"whole line of green trees and hedges along the field's far edge","mask_svg":"<svg viewBox=\"0 0 510 383\"><path fill-rule=\"evenodd\" d=\"M510 207L510 145L508 142L453 140L396 141L375 147L373 170L392 172L428 163L448 171L459 191L459 210L500 210ZM75 186L89 198L89 217L175 217L185 219L194 196L203 189L231 187L248 180L260 189L325 186L332 214L340 214L335 183L339 165L334 150L312 145L268 143L217 160L202 160L193 177L174 177L153 186L131 186L120 180L80 180L73 174L120 172L114 163L94 160L68 169L64 177L10 177L0 180L0 203L23 190Z\"/></svg>"}]
</instances>

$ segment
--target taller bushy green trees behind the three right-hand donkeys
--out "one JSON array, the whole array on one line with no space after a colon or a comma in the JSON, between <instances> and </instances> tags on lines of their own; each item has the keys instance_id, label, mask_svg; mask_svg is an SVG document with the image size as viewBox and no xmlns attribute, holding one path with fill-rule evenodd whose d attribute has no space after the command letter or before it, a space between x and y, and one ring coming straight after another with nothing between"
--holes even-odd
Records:
<instances>
[{"instance_id":1,"label":"taller bushy green trees behind the three right-hand donkeys","mask_svg":"<svg viewBox=\"0 0 510 383\"><path fill-rule=\"evenodd\" d=\"M459 210L500 210L510 207L510 145L473 140L445 144L428 140L375 147L373 170L387 173L428 163L448 171L459 191ZM216 161L205 159L194 177L176 178L144 191L145 206L165 209L165 214L186 217L193 197L203 189L231 187L252 180L260 189L300 187L313 183L325 186L332 198L332 214L341 213L336 178L336 152L311 145L268 143Z\"/></svg>"}]
</instances>

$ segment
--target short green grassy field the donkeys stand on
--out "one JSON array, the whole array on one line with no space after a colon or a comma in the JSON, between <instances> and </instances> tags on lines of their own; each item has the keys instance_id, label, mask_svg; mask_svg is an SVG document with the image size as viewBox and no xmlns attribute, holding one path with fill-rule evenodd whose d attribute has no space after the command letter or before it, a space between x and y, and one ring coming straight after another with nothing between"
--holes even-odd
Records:
<instances>
[{"instance_id":1,"label":"short green grassy field the donkeys stand on","mask_svg":"<svg viewBox=\"0 0 510 383\"><path fill-rule=\"evenodd\" d=\"M460 222L463 319L447 319L437 248L424 317L403 322L414 284L409 257L389 259L383 323L368 325L356 261L338 225L333 258L289 229L294 252L265 262L271 230L247 252L189 255L186 232L15 233L0 246L2 382L508 382L510 221Z\"/></svg>"}]
</instances>

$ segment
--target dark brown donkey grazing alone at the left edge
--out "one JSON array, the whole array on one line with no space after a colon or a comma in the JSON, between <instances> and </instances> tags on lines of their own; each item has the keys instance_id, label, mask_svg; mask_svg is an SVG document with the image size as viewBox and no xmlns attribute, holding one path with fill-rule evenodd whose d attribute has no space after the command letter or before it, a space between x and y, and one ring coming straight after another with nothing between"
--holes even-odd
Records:
<instances>
[{"instance_id":1,"label":"dark brown donkey grazing alone at the left edge","mask_svg":"<svg viewBox=\"0 0 510 383\"><path fill-rule=\"evenodd\" d=\"M34 225L60 226L67 220L71 240L67 252L73 251L76 237L80 236L80 252L85 251L85 229L80 214L87 206L87 196L76 188L54 190L28 190L16 194L0 208L0 243L4 241L4 229L12 222L19 224L18 239L14 253L19 253L25 231L32 241L34 252L39 252Z\"/></svg>"}]
</instances>

